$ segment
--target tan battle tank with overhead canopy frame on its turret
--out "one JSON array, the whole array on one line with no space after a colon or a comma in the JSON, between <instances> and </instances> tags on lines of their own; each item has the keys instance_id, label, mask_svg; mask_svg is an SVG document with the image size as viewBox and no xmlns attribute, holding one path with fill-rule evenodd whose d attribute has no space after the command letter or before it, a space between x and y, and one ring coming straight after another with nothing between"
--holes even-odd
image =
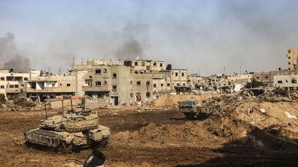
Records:
<instances>
[{"instance_id":1,"label":"tan battle tank with overhead canopy frame on its turret","mask_svg":"<svg viewBox=\"0 0 298 167\"><path fill-rule=\"evenodd\" d=\"M73 108L72 100L81 98L83 105ZM58 153L71 151L73 148L90 146L95 148L106 145L110 129L99 124L96 111L85 108L86 96L58 97L45 100L46 118L40 121L39 128L26 131L25 141L28 145L37 144L56 148ZM71 101L71 110L64 113L63 101ZM47 115L47 102L61 101L62 111L52 117Z\"/></svg>"}]
</instances>

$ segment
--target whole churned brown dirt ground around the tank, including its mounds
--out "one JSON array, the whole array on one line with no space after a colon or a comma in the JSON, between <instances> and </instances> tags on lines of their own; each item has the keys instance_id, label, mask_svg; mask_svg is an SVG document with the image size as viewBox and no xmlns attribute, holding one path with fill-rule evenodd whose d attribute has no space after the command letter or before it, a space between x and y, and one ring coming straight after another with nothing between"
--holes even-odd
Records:
<instances>
[{"instance_id":1,"label":"whole churned brown dirt ground around the tank, including its mounds","mask_svg":"<svg viewBox=\"0 0 298 167\"><path fill-rule=\"evenodd\" d=\"M170 107L97 109L100 123L111 130L109 144L100 150L105 166L297 166L297 120L284 113L298 115L297 107L297 102L240 102L233 112L203 121L185 120ZM248 113L250 108L255 110ZM44 112L0 114L1 166L65 166L91 153L27 148L23 132L36 128ZM279 129L281 124L287 126Z\"/></svg>"}]
</instances>

